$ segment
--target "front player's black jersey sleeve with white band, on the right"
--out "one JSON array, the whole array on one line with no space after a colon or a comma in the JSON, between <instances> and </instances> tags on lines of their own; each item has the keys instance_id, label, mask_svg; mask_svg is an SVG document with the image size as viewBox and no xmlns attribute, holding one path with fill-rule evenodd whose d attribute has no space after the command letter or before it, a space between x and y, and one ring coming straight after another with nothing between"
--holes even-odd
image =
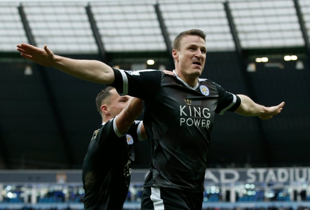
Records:
<instances>
[{"instance_id":1,"label":"front player's black jersey sleeve with white band, on the right","mask_svg":"<svg viewBox=\"0 0 310 210\"><path fill-rule=\"evenodd\" d=\"M224 90L220 85L214 83L219 92L219 102L215 109L215 112L219 115L223 115L224 112L234 112L241 104L239 96L229 93Z\"/></svg>"}]
</instances>

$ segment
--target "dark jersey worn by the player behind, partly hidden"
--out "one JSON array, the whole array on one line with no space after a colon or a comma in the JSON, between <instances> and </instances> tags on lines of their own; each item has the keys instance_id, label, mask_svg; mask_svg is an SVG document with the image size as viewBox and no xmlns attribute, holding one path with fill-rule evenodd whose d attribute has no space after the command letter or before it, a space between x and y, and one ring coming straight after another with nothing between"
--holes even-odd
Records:
<instances>
[{"instance_id":1,"label":"dark jersey worn by the player behind, partly hidden","mask_svg":"<svg viewBox=\"0 0 310 210\"><path fill-rule=\"evenodd\" d=\"M122 209L130 183L133 143L143 140L141 124L136 120L122 135L113 118L95 130L82 170L84 209Z\"/></svg>"}]
</instances>

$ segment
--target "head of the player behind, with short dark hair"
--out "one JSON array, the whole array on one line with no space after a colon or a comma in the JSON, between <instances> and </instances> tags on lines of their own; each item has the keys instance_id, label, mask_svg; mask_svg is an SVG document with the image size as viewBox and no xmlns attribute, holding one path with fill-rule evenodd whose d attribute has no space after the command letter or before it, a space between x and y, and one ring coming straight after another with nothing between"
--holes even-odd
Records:
<instances>
[{"instance_id":1,"label":"head of the player behind, with short dark hair","mask_svg":"<svg viewBox=\"0 0 310 210\"><path fill-rule=\"evenodd\" d=\"M97 110L104 121L117 116L125 107L130 96L120 96L115 88L108 86L96 98Z\"/></svg>"}]
</instances>

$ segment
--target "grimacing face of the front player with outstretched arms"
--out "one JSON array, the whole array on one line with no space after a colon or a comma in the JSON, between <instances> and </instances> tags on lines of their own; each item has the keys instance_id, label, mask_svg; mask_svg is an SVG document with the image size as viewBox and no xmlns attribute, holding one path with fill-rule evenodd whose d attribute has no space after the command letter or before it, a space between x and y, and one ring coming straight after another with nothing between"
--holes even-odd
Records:
<instances>
[{"instance_id":1,"label":"grimacing face of the front player with outstretched arms","mask_svg":"<svg viewBox=\"0 0 310 210\"><path fill-rule=\"evenodd\" d=\"M205 66L206 51L206 42L203 38L196 35L184 36L175 58L179 61L179 72L185 78L198 78Z\"/></svg>"}]
</instances>

